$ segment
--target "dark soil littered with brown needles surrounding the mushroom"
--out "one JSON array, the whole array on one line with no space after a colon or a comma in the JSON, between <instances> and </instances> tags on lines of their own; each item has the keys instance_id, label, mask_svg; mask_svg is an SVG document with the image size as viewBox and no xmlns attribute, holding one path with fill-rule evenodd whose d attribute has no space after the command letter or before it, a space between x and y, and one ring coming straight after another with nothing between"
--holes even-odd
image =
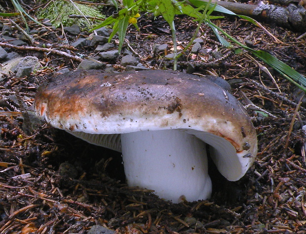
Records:
<instances>
[{"instance_id":1,"label":"dark soil littered with brown needles surrounding the mushroom","mask_svg":"<svg viewBox=\"0 0 306 234\"><path fill-rule=\"evenodd\" d=\"M10 25L8 19L1 20ZM20 18L13 20L25 28ZM251 41L254 48L269 51L306 75L306 39L297 39L301 33L263 22L276 41L239 18L214 22L239 41ZM177 17L175 23L178 44L184 47L197 25L186 16ZM40 29L33 22L28 24ZM139 28L129 27L123 48L132 50L147 68L171 69L172 62L163 59L173 48L165 21L143 15ZM87 32L65 35L69 43L88 36ZM65 44L65 37L58 29L36 37L35 42L55 48ZM10 48L23 56L37 56L43 68L29 77L12 74L0 82L0 233L81 234L94 225L117 233L306 233L306 135L302 130L306 111L295 85L252 54L236 53L235 46L223 47L206 25L197 37L204 41L203 51L186 55L178 70L186 72L192 64L196 74L228 80L258 133L258 156L241 180L225 180L212 165L212 197L179 204L127 187L120 154L39 122L31 112L38 86L61 68L75 70L78 62ZM155 43L168 44L169 49L156 54ZM85 57L96 54L90 46L62 50ZM120 58L108 63L122 72L125 68L119 62Z\"/></svg>"}]
</instances>

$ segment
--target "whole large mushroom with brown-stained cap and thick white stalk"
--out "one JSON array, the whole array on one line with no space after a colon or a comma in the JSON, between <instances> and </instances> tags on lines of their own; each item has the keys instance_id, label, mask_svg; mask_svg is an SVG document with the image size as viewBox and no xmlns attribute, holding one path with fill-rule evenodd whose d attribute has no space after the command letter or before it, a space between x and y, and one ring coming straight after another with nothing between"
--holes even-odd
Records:
<instances>
[{"instance_id":1,"label":"whole large mushroom with brown-stained cap and thick white stalk","mask_svg":"<svg viewBox=\"0 0 306 234\"><path fill-rule=\"evenodd\" d=\"M207 148L230 181L257 155L256 132L242 105L193 75L70 72L40 86L35 107L52 126L122 152L129 186L173 202L210 197Z\"/></svg>"}]
</instances>

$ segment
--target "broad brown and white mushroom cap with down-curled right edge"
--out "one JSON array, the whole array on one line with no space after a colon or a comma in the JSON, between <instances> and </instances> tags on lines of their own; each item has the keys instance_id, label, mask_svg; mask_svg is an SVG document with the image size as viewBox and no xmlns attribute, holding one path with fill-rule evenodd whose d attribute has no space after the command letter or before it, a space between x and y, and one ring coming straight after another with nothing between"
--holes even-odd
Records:
<instances>
[{"instance_id":1,"label":"broad brown and white mushroom cap with down-curled right edge","mask_svg":"<svg viewBox=\"0 0 306 234\"><path fill-rule=\"evenodd\" d=\"M65 73L39 87L35 107L52 126L81 138L102 134L105 146L118 151L118 134L182 129L214 148L212 158L229 180L240 179L257 155L256 131L242 105L212 81L189 74Z\"/></svg>"}]
</instances>

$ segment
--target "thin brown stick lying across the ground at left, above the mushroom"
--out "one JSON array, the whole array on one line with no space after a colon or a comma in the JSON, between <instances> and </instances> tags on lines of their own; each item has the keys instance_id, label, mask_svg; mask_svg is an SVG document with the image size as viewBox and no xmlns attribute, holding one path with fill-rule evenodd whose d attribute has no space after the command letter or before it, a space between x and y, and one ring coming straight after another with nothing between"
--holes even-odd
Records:
<instances>
[{"instance_id":1,"label":"thin brown stick lying across the ground at left, above the mushroom","mask_svg":"<svg viewBox=\"0 0 306 234\"><path fill-rule=\"evenodd\" d=\"M19 49L19 50L33 50L33 51L51 53L51 54L56 54L56 55L66 57L68 59L71 59L71 60L74 60L74 61L77 61L77 62L82 62L83 61L83 59L81 59L80 57L77 57L77 56L71 55L67 52L60 51L60 50L53 49L53 48L41 48L41 47L35 47L35 46L17 46L17 45L11 45L11 44L8 44L8 43L3 43L3 42L0 42L0 46L13 48L13 49Z\"/></svg>"}]
</instances>

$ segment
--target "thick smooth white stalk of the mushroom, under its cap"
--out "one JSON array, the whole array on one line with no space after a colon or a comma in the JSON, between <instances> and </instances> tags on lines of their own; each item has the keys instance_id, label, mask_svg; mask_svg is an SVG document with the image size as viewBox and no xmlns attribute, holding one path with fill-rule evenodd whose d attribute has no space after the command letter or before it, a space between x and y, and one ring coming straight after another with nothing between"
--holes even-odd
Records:
<instances>
[{"instance_id":1,"label":"thick smooth white stalk of the mushroom, under its cap","mask_svg":"<svg viewBox=\"0 0 306 234\"><path fill-rule=\"evenodd\" d=\"M154 190L175 203L210 197L206 147L195 136L184 130L125 133L121 147L129 186Z\"/></svg>"}]
</instances>

